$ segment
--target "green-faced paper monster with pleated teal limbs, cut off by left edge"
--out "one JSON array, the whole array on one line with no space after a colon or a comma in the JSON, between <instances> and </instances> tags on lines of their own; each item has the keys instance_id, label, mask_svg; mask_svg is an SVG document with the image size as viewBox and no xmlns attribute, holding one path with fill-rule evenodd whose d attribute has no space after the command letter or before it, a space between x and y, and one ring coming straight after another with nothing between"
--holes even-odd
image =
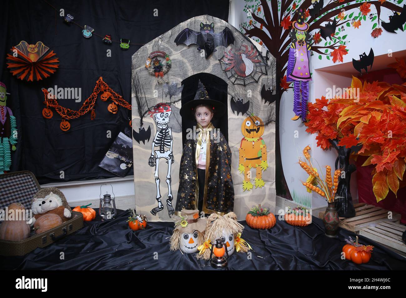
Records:
<instances>
[{"instance_id":1,"label":"green-faced paper monster with pleated teal limbs, cut off by left edge","mask_svg":"<svg viewBox=\"0 0 406 298\"><path fill-rule=\"evenodd\" d=\"M17 125L11 109L6 107L7 94L6 85L0 82L0 174L10 170L10 144L13 151L17 144Z\"/></svg>"}]
</instances>

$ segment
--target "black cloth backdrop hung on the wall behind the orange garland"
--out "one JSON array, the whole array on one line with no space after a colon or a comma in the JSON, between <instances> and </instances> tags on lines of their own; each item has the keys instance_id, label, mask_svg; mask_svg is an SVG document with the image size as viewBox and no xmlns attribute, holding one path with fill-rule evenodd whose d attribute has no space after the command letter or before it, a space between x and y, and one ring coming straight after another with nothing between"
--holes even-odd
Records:
<instances>
[{"instance_id":1,"label":"black cloth backdrop hung on the wall behind the orange garland","mask_svg":"<svg viewBox=\"0 0 406 298\"><path fill-rule=\"evenodd\" d=\"M44 0L4 1L0 20L0 81L7 86L7 105L17 118L18 144L12 152L11 171L29 170L40 183L90 180L115 177L98 167L108 148L120 131L131 133L131 111L119 106L119 112L107 110L110 101L96 103L96 118L90 113L69 120L71 129L59 128L60 116L53 109L52 119L42 117L44 97L41 88L81 88L81 102L60 99L60 105L78 110L90 96L99 77L131 103L131 56L141 45L130 45L122 51L119 43L105 45L102 38L93 34L90 39L82 36L82 29L75 24L65 24L59 9L71 14L81 26L95 29L94 33L112 39L130 39L131 43L144 44L177 24L198 15L213 15L227 20L228 0ZM158 9L158 16L154 16ZM56 17L56 21L55 21ZM6 53L20 41L34 44L42 41L54 50L60 60L59 69L51 77L39 82L25 82L13 77L6 68ZM107 56L111 49L111 57ZM111 131L111 138L108 138ZM128 173L132 175L133 170Z\"/></svg>"}]
</instances>

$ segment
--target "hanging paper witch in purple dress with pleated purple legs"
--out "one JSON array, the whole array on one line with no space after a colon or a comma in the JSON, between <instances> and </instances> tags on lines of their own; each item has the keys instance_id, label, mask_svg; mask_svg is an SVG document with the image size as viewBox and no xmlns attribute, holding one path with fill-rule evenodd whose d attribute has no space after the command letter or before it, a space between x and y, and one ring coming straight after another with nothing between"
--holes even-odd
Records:
<instances>
[{"instance_id":1,"label":"hanging paper witch in purple dress with pleated purple legs","mask_svg":"<svg viewBox=\"0 0 406 298\"><path fill-rule=\"evenodd\" d=\"M311 35L308 32L309 24L304 22L303 12L298 13L298 20L292 23L290 38L292 43L289 48L289 60L287 62L287 80L294 82L293 111L295 116L292 120L306 120L307 101L309 100L309 81L311 81L309 56ZM302 103L300 103L300 93Z\"/></svg>"}]
</instances>

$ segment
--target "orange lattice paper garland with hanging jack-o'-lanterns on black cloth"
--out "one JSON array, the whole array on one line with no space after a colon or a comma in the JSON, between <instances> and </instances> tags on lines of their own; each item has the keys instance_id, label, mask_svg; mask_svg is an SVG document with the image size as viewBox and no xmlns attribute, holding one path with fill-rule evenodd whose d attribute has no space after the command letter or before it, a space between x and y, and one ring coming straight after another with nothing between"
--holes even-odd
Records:
<instances>
[{"instance_id":1,"label":"orange lattice paper garland with hanging jack-o'-lanterns on black cloth","mask_svg":"<svg viewBox=\"0 0 406 298\"><path fill-rule=\"evenodd\" d=\"M47 89L42 88L42 92L44 93L45 96L45 101L43 103L46 105L46 107L44 107L42 110L42 116L46 119L52 118L54 114L50 109L50 107L53 107L55 111L62 117L62 121L60 122L59 127L63 131L68 131L71 128L71 125L67 120L79 118L80 116L89 113L89 111L91 112L90 119L91 120L95 119L96 117L95 105L97 96L100 92L103 92L103 94L100 96L100 99L102 101L107 101L107 99L109 98L112 101L112 103L110 103L107 108L108 111L111 112L112 114L117 114L118 105L121 105L122 107L131 110L131 104L127 103L127 101L125 101L120 94L114 92L114 90L112 90L103 81L102 77L99 77L92 94L84 101L82 107L80 107L78 111L74 111L72 109L68 109L66 107L62 107L61 105L59 105L58 100L55 98L53 94L50 94Z\"/></svg>"}]
</instances>

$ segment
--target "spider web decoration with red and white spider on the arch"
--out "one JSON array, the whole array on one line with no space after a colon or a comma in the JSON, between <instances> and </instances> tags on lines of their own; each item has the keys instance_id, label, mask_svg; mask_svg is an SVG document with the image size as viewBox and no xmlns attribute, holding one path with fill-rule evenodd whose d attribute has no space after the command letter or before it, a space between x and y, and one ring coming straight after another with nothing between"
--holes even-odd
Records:
<instances>
[{"instance_id":1,"label":"spider web decoration with red and white spider on the arch","mask_svg":"<svg viewBox=\"0 0 406 298\"><path fill-rule=\"evenodd\" d=\"M218 61L234 85L258 83L261 75L267 75L266 65L252 44L251 47L243 44L237 51L231 47Z\"/></svg>"}]
</instances>

